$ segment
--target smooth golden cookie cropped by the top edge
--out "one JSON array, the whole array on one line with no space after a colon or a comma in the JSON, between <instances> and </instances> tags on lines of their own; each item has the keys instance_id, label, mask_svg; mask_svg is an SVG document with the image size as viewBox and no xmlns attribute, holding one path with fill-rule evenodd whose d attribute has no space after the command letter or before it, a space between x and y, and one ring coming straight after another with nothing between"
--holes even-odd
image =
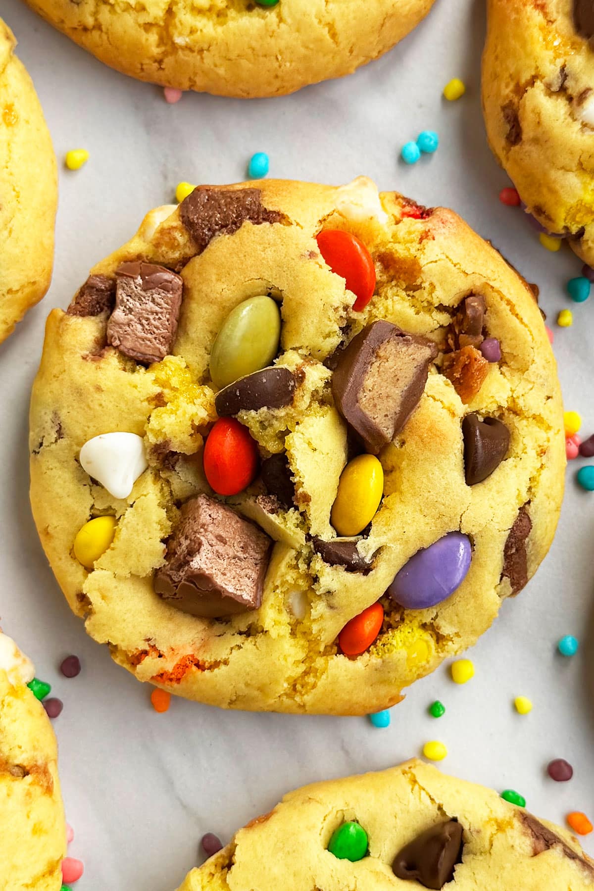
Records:
<instances>
[{"instance_id":1,"label":"smooth golden cookie cropped by the top edge","mask_svg":"<svg viewBox=\"0 0 594 891\"><path fill-rule=\"evenodd\" d=\"M181 90L252 98L350 74L386 53L434 0L28 0L112 68Z\"/></svg>"}]
</instances>

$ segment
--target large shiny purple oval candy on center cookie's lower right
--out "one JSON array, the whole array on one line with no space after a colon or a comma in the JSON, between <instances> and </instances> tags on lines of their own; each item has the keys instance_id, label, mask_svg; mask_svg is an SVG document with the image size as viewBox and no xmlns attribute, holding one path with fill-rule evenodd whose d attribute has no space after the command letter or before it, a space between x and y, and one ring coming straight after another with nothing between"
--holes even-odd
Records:
<instances>
[{"instance_id":1,"label":"large shiny purple oval candy on center cookie's lower right","mask_svg":"<svg viewBox=\"0 0 594 891\"><path fill-rule=\"evenodd\" d=\"M472 560L468 535L448 532L411 557L387 593L404 609L435 607L462 584Z\"/></svg>"}]
</instances>

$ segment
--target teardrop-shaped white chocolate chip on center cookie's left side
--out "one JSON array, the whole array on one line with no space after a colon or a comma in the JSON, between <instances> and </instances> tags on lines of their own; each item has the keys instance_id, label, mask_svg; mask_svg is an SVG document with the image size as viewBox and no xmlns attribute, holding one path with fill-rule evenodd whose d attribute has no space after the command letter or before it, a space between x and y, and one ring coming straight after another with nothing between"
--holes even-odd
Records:
<instances>
[{"instance_id":1,"label":"teardrop-shaped white chocolate chip on center cookie's left side","mask_svg":"<svg viewBox=\"0 0 594 891\"><path fill-rule=\"evenodd\" d=\"M135 433L102 433L93 437L81 448L79 460L83 470L114 498L127 498L149 466L142 437Z\"/></svg>"}]
</instances>

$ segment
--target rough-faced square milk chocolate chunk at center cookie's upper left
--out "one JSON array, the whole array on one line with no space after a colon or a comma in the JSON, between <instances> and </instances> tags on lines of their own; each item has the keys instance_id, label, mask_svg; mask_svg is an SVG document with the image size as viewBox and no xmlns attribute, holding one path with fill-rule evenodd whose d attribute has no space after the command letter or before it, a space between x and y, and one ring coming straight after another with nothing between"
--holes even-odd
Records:
<instances>
[{"instance_id":1,"label":"rough-faced square milk chocolate chunk at center cookie's upper left","mask_svg":"<svg viewBox=\"0 0 594 891\"><path fill-rule=\"evenodd\" d=\"M160 362L175 340L182 306L181 275L138 260L122 263L116 276L116 308L107 324L108 343L136 362Z\"/></svg>"}]
</instances>

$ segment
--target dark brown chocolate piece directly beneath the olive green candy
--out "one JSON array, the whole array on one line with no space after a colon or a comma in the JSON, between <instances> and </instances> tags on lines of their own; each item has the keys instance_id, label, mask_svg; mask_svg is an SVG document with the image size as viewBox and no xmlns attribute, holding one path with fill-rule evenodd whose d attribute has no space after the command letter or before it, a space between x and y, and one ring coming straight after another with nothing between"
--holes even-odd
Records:
<instances>
[{"instance_id":1,"label":"dark brown chocolate piece directly beneath the olive green candy","mask_svg":"<svg viewBox=\"0 0 594 891\"><path fill-rule=\"evenodd\" d=\"M296 380L288 368L263 368L234 380L216 394L216 413L224 418L261 408L282 408L293 401Z\"/></svg>"}]
</instances>

